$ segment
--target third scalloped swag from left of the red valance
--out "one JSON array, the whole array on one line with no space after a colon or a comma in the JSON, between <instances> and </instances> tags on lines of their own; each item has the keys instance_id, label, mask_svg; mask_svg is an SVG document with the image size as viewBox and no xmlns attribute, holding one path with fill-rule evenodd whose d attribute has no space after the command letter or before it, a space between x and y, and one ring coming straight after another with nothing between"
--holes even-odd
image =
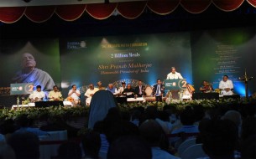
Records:
<instances>
[{"instance_id":1,"label":"third scalloped swag from left of the red valance","mask_svg":"<svg viewBox=\"0 0 256 159\"><path fill-rule=\"evenodd\" d=\"M74 21L85 12L86 4L57 6L55 13L65 21Z\"/></svg>"}]
</instances>

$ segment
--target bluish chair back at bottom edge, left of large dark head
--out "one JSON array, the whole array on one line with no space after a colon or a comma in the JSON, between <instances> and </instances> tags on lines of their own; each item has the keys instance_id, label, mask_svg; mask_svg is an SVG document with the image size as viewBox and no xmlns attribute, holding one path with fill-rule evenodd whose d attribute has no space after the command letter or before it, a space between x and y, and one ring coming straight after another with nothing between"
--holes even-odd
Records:
<instances>
[{"instance_id":1,"label":"bluish chair back at bottom edge, left of large dark head","mask_svg":"<svg viewBox=\"0 0 256 159\"><path fill-rule=\"evenodd\" d=\"M181 154L181 158L183 159L195 159L201 157L207 157L205 151L202 150L202 144L196 144L193 146L188 147L185 151Z\"/></svg>"}]
</instances>

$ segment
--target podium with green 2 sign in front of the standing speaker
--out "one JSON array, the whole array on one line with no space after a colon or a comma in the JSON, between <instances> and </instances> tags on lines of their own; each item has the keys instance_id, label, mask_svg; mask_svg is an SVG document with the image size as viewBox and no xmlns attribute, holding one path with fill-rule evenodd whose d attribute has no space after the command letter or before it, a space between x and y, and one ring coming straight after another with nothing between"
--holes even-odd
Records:
<instances>
[{"instance_id":1,"label":"podium with green 2 sign in front of the standing speaker","mask_svg":"<svg viewBox=\"0 0 256 159\"><path fill-rule=\"evenodd\" d=\"M186 89L185 79L165 79L165 95L170 90L173 99L180 99L180 90Z\"/></svg>"}]
</instances>

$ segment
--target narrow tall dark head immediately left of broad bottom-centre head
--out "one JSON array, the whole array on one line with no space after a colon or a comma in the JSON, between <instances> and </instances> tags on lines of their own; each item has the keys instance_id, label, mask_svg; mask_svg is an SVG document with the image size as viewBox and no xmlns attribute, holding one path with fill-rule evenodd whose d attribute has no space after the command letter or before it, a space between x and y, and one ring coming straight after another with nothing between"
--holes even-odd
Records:
<instances>
[{"instance_id":1,"label":"narrow tall dark head immediately left of broad bottom-centre head","mask_svg":"<svg viewBox=\"0 0 256 159\"><path fill-rule=\"evenodd\" d=\"M81 139L86 158L99 158L101 137L98 132L88 131Z\"/></svg>"}]
</instances>

